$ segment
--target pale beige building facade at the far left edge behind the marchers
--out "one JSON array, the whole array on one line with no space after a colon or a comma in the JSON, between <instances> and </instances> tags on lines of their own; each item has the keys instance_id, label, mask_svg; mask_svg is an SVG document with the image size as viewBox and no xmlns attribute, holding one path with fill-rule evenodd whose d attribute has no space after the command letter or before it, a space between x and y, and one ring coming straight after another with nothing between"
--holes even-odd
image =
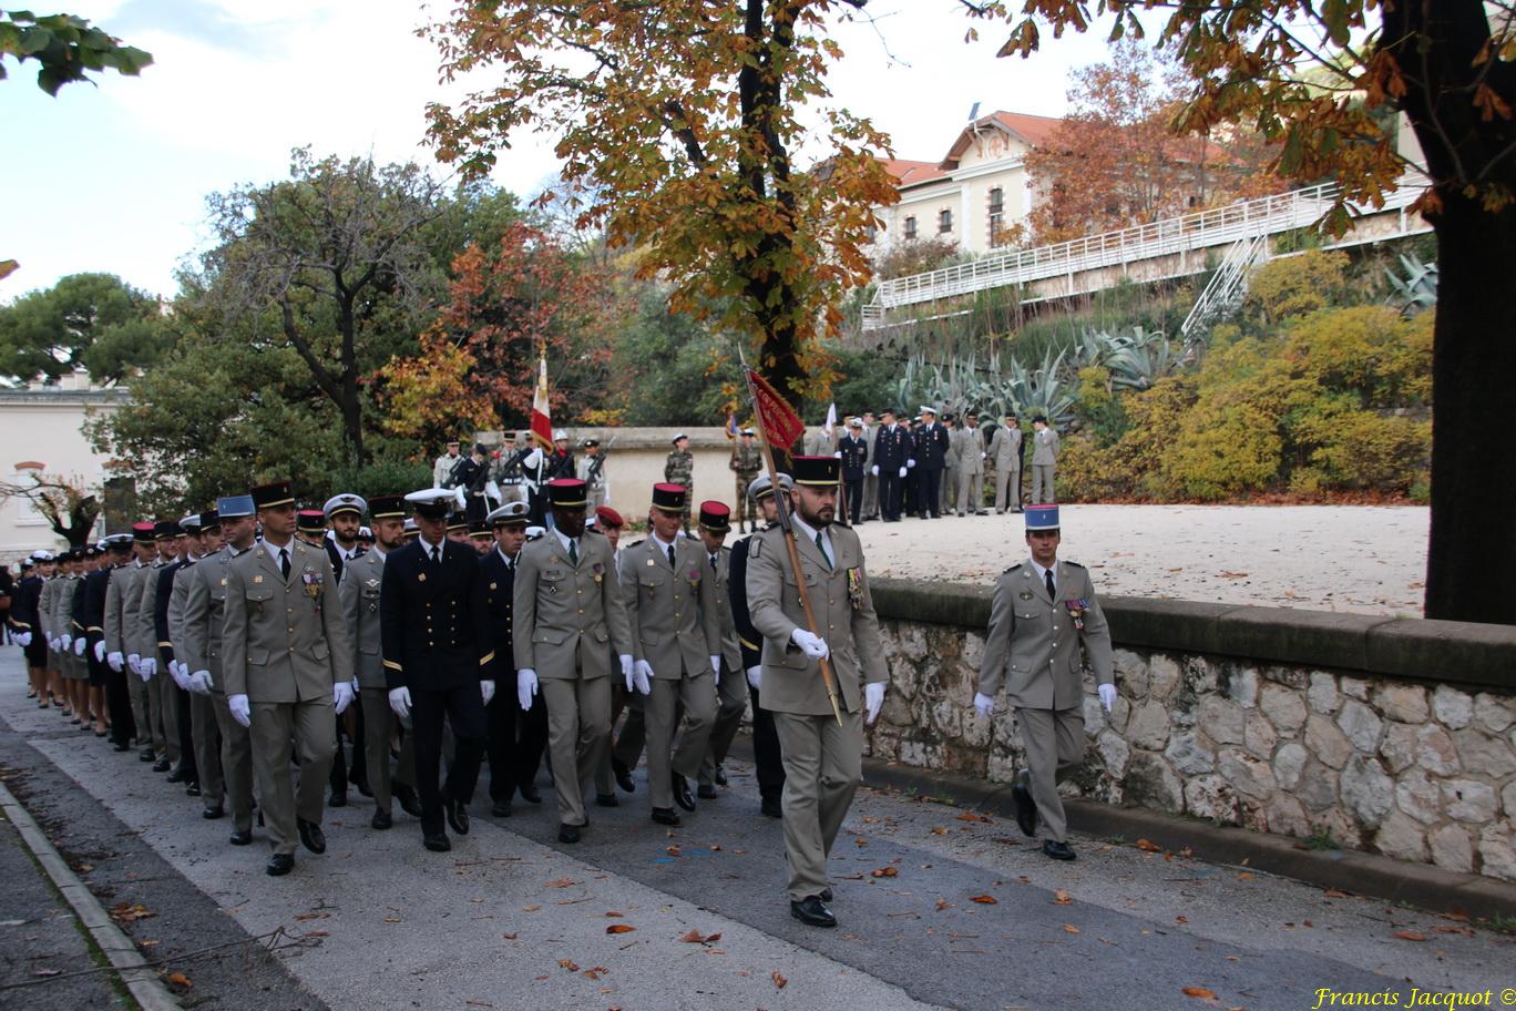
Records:
<instances>
[{"instance_id":1,"label":"pale beige building facade at the far left edge behind the marchers","mask_svg":"<svg viewBox=\"0 0 1516 1011\"><path fill-rule=\"evenodd\" d=\"M124 390L91 387L83 373L64 376L58 385L0 390L5 482L27 485L29 474L64 477L99 494L106 458L89 449L83 424L124 399ZM0 499L0 561L14 564L39 547L55 550L65 541L29 500Z\"/></svg>"}]
</instances>

